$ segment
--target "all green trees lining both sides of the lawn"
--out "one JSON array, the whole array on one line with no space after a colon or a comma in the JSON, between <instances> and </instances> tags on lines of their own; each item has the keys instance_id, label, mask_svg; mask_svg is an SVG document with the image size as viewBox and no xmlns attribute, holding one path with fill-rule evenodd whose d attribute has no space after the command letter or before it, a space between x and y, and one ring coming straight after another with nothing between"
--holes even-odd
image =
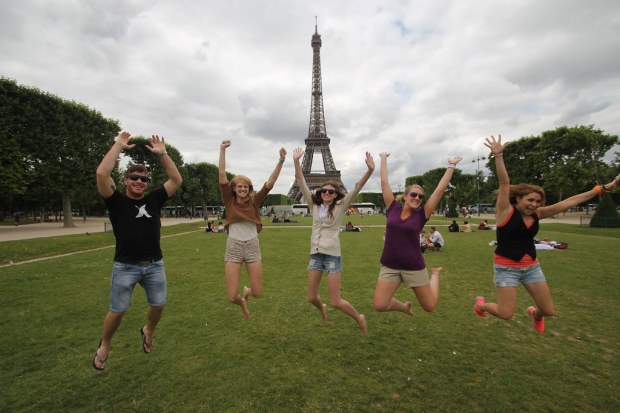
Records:
<instances>
[{"instance_id":1,"label":"all green trees lining both sides of the lawn","mask_svg":"<svg viewBox=\"0 0 620 413\"><path fill-rule=\"evenodd\" d=\"M107 119L82 104L0 78L0 136L4 144L0 151L0 218L20 211L40 217L52 213L62 215L65 226L72 226L75 209L82 214L105 214L97 194L95 170L119 131L117 120ZM125 153L127 161L149 166L153 185L163 183L159 160L145 149L148 139L135 137L133 143L137 145ZM617 136L594 126L564 126L509 142L504 159L512 182L541 185L549 201L555 202L615 176L620 166L618 153L609 164L603 157L616 144ZM170 203L191 212L198 206L220 205L217 166L206 162L185 164L174 146L167 145L167 151L184 179ZM482 171L455 171L445 201L450 202L450 210L455 210L456 204L475 204L478 199L494 202L494 161L489 159L486 167L491 171L488 177ZM445 168L437 168L408 177L406 185L418 183L430 193L444 172ZM120 177L121 172L115 171L116 182L121 182ZM363 193L356 201L383 204L380 193ZM272 194L265 201L267 206L291 203L282 194Z\"/></svg>"}]
</instances>

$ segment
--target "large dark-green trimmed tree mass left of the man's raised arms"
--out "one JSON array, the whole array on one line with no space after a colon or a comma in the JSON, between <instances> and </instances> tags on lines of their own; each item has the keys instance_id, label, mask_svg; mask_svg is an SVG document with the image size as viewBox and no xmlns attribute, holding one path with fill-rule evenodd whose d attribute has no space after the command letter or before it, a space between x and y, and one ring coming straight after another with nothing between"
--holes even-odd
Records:
<instances>
[{"instance_id":1,"label":"large dark-green trimmed tree mass left of the man's raised arms","mask_svg":"<svg viewBox=\"0 0 620 413\"><path fill-rule=\"evenodd\" d=\"M94 171L118 122L82 104L0 78L0 213L59 215L97 199ZM19 215L16 216L19 218Z\"/></svg>"}]
</instances>

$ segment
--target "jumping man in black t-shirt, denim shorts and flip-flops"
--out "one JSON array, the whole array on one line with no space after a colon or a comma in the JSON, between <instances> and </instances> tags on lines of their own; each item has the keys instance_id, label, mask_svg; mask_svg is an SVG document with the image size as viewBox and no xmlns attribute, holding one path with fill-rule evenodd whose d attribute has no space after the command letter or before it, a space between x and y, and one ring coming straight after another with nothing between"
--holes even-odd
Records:
<instances>
[{"instance_id":1,"label":"jumping man in black t-shirt, denim shorts and flip-flops","mask_svg":"<svg viewBox=\"0 0 620 413\"><path fill-rule=\"evenodd\" d=\"M114 266L110 283L110 307L103 321L103 334L93 358L93 368L105 369L112 337L131 305L136 284L146 291L149 304L146 325L140 328L142 349L150 353L155 327L166 303L166 271L160 240L160 211L181 186L183 178L166 152L164 138L153 135L146 148L159 156L168 180L162 187L146 193L150 178L144 165L130 166L125 172L125 193L118 192L111 178L121 151L131 149L131 135L121 132L97 168L97 188L110 213L116 238Z\"/></svg>"}]
</instances>

